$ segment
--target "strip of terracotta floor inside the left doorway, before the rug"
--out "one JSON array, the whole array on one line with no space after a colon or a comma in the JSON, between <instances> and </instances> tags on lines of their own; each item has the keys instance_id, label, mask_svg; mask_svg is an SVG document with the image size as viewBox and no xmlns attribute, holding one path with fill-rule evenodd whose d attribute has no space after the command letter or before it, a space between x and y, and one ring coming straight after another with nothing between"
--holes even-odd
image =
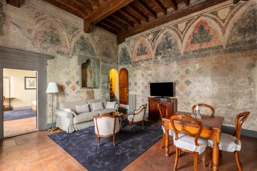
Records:
<instances>
[{"instance_id":1,"label":"strip of terracotta floor inside the left doorway, before the rug","mask_svg":"<svg viewBox=\"0 0 257 171\"><path fill-rule=\"evenodd\" d=\"M36 117L4 121L4 137L24 134L36 130Z\"/></svg>"}]
</instances>

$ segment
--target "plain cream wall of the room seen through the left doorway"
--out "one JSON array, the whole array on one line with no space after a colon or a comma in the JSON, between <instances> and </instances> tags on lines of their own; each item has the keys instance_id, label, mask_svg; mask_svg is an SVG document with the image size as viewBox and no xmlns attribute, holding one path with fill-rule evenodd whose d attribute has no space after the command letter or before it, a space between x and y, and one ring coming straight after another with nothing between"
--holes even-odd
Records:
<instances>
[{"instance_id":1,"label":"plain cream wall of the room seen through the left doorway","mask_svg":"<svg viewBox=\"0 0 257 171\"><path fill-rule=\"evenodd\" d=\"M32 101L36 100L36 90L25 90L25 77L36 77L36 72L19 69L4 69L3 76L10 78L10 107L32 106ZM5 87L4 90L8 89ZM8 99L6 99L8 103Z\"/></svg>"}]
</instances>

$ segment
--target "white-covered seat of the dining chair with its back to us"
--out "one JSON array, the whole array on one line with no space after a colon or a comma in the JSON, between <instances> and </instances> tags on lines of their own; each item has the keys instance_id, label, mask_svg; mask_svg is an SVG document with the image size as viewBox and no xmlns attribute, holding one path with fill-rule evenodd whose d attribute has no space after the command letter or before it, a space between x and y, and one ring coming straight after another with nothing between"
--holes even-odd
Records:
<instances>
[{"instance_id":1,"label":"white-covered seat of the dining chair with its back to us","mask_svg":"<svg viewBox=\"0 0 257 171\"><path fill-rule=\"evenodd\" d=\"M198 152L199 154L203 153L207 147L207 140L199 138L199 146L196 146L194 144L194 139L195 137L190 137L185 134L178 134L177 140L175 140L175 136L173 136L173 142L176 147Z\"/></svg>"}]
</instances>

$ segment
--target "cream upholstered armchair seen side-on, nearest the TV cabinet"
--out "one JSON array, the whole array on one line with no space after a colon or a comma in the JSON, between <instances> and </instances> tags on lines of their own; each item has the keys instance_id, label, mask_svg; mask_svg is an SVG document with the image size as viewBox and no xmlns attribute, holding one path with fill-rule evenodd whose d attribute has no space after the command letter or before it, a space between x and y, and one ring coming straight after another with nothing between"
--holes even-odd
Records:
<instances>
[{"instance_id":1,"label":"cream upholstered armchair seen side-on, nearest the TV cabinet","mask_svg":"<svg viewBox=\"0 0 257 171\"><path fill-rule=\"evenodd\" d=\"M140 106L137 110L134 110L133 115L127 116L128 125L130 126L132 123L142 123L142 128L144 129L144 116L146 112L147 104Z\"/></svg>"}]
</instances>

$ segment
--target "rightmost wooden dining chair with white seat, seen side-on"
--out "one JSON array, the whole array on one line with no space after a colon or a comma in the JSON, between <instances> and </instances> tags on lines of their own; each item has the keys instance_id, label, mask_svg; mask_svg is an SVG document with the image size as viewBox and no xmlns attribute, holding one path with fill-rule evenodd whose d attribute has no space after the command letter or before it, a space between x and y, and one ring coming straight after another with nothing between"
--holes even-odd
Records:
<instances>
[{"instance_id":1,"label":"rightmost wooden dining chair with white seat, seen side-on","mask_svg":"<svg viewBox=\"0 0 257 171\"><path fill-rule=\"evenodd\" d=\"M235 118L235 132L234 135L229 135L226 133L221 133L221 138L219 140L219 149L223 151L233 152L235 156L235 163L239 171L242 171L242 164L238 157L238 151L241 150L241 130L242 125L250 115L249 111L239 113ZM208 139L208 151L211 151L213 142L211 139ZM209 167L212 166L211 153L209 154ZM205 158L203 157L203 163L205 163Z\"/></svg>"}]
</instances>

